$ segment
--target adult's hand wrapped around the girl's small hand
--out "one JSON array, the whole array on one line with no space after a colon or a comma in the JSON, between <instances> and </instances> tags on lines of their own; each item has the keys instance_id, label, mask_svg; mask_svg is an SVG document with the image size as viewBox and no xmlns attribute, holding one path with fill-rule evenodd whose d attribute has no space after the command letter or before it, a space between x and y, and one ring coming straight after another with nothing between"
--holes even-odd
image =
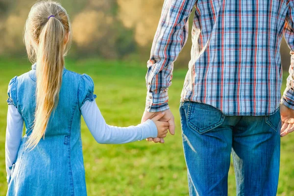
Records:
<instances>
[{"instance_id":1,"label":"adult's hand wrapped around the girl's small hand","mask_svg":"<svg viewBox=\"0 0 294 196\"><path fill-rule=\"evenodd\" d=\"M175 130L175 124L174 124L174 117L172 115L172 111L170 109L165 110L164 111L165 114L164 116L160 119L160 121L163 122L168 122L170 123L169 125L169 131L172 135L174 135L174 130ZM145 121L147 121L148 119L152 119L154 116L157 116L159 114L161 114L162 112L147 112L145 111L143 116L142 116L142 120L141 123L144 123ZM153 141L154 143L164 143L164 139L163 138L147 138L147 141Z\"/></svg>"}]
</instances>

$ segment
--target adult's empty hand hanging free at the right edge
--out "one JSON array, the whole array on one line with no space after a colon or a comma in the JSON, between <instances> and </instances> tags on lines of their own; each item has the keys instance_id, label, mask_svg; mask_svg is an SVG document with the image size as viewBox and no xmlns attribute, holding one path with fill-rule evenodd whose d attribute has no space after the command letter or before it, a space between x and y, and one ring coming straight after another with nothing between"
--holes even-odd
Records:
<instances>
[{"instance_id":1,"label":"adult's empty hand hanging free at the right edge","mask_svg":"<svg viewBox=\"0 0 294 196\"><path fill-rule=\"evenodd\" d=\"M280 113L282 121L281 137L284 137L294 131L294 110L281 104Z\"/></svg>"}]
</instances>

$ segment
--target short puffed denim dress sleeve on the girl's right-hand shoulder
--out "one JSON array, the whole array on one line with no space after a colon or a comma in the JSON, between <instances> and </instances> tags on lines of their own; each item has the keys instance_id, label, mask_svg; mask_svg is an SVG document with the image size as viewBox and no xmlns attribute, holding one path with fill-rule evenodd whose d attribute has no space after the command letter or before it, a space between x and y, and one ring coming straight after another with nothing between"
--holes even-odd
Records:
<instances>
[{"instance_id":1,"label":"short puffed denim dress sleeve on the girl's right-hand shoulder","mask_svg":"<svg viewBox=\"0 0 294 196\"><path fill-rule=\"evenodd\" d=\"M87 75L82 74L79 88L78 88L78 106L81 109L86 100L94 101L97 96L94 94L94 82L93 79Z\"/></svg>"}]
</instances>

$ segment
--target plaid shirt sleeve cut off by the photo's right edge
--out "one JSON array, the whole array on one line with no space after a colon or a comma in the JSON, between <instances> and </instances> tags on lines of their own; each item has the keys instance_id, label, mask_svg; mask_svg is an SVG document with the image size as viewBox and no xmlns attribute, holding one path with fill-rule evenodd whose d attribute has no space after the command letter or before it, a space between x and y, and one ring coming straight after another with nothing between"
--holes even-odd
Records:
<instances>
[{"instance_id":1,"label":"plaid shirt sleeve cut off by the photo's right edge","mask_svg":"<svg viewBox=\"0 0 294 196\"><path fill-rule=\"evenodd\" d=\"M290 109L294 109L294 0L289 1L289 8L284 26L284 37L291 49L291 65L287 78L287 87L283 93L281 103Z\"/></svg>"}]
</instances>

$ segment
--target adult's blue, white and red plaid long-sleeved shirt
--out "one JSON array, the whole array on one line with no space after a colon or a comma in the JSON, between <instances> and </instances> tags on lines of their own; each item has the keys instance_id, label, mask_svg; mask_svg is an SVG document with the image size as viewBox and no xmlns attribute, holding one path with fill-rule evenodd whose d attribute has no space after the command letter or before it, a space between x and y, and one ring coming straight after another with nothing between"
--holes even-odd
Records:
<instances>
[{"instance_id":1,"label":"adult's blue, white and red plaid long-sleeved shirt","mask_svg":"<svg viewBox=\"0 0 294 196\"><path fill-rule=\"evenodd\" d=\"M187 41L194 6L181 101L206 103L225 115L270 115L280 102L294 109L294 57L282 99L280 58L283 34L294 51L294 0L165 0L147 62L146 111L169 109L173 62Z\"/></svg>"}]
</instances>

